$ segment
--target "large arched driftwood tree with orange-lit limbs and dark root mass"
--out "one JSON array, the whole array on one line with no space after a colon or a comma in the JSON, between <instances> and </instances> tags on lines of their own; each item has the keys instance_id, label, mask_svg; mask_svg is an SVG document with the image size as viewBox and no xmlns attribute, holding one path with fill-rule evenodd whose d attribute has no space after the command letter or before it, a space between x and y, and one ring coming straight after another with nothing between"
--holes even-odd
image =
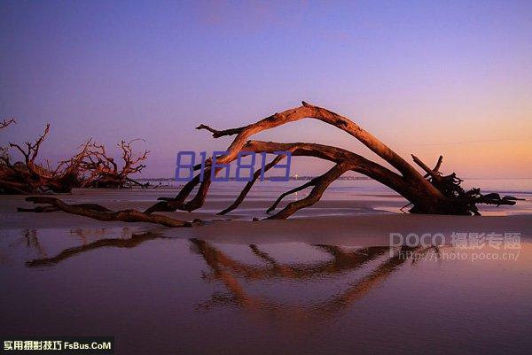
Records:
<instances>
[{"instance_id":1,"label":"large arched driftwood tree with orange-lit limbs and dark root mass","mask_svg":"<svg viewBox=\"0 0 532 355\"><path fill-rule=\"evenodd\" d=\"M252 135L267 129L282 126L296 120L314 119L321 120L333 127L353 136L357 141L363 143L369 150L372 150L382 158L391 168L380 165L372 160L362 157L352 151L340 149L317 143L276 143L250 140ZM276 151L289 151L293 156L306 156L325 159L334 163L334 166L325 174L320 175L311 181L282 194L270 207L268 212L274 211L279 202L289 194L301 189L312 188L309 196L301 200L294 201L286 205L279 212L270 215L269 219L286 219L301 208L315 204L325 192L325 189L338 179L342 174L353 171L364 174L375 181L394 189L398 194L406 198L411 205L412 213L434 213L434 214L459 214L478 215L480 214L477 204L488 205L515 205L515 197L500 197L497 194L482 195L480 189L465 191L460 186L461 180L456 174L442 175L439 171L442 165L442 157L437 161L434 168L426 166L419 158L412 155L413 162L418 165L423 173L412 166L403 157L395 153L382 143L377 137L365 131L355 122L338 113L331 112L325 108L312 104L302 103L301 106L286 110L285 112L274 113L270 117L259 120L244 127L217 130L207 125L200 125L197 129L205 129L212 133L214 138L228 135L236 135L231 145L227 149L227 154L216 157L219 164L229 164L238 158L239 152L270 153ZM282 156L275 158L266 170L275 165ZM194 167L196 170L200 166ZM219 172L216 168L214 174ZM257 180L259 172L254 174L254 179L249 181L245 189L240 193L237 200L220 213L234 210L245 199L247 192L251 189L254 181ZM160 197L159 202L148 208L145 212L150 215L153 212L175 212L176 210L194 211L199 209L205 202L208 189L211 184L211 160L207 159L205 164L204 179L200 181L200 174L194 176L192 181L184 185L176 197ZM197 192L191 198L194 188ZM34 202L36 202L34 200ZM62 209L59 205L55 205ZM67 211L68 212L68 211ZM132 220L135 220L131 216ZM145 220L139 219L138 221Z\"/></svg>"}]
</instances>

